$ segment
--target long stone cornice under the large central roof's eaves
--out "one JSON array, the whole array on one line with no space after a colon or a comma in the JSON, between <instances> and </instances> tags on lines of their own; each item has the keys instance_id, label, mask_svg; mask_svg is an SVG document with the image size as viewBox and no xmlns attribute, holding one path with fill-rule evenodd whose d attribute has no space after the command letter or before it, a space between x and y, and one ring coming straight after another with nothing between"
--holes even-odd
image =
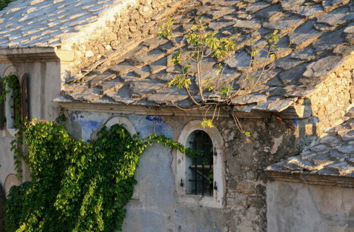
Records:
<instances>
[{"instance_id":1,"label":"long stone cornice under the large central roof's eaves","mask_svg":"<svg viewBox=\"0 0 354 232\"><path fill-rule=\"evenodd\" d=\"M112 112L112 113L127 113L127 114L143 114L143 115L173 115L183 117L200 117L201 113L205 114L205 110L190 109L181 110L173 106L157 107L143 105L119 105L112 103L89 103L89 102L74 102L74 101L58 101L58 104L67 110L74 111L93 111L93 112ZM212 117L213 112L208 112L207 117ZM241 119L264 119L269 118L271 112L236 112L238 118ZM277 113L283 119L302 119L311 115L308 107L303 105L292 105L288 109ZM219 117L229 117L227 114L220 114Z\"/></svg>"}]
</instances>

